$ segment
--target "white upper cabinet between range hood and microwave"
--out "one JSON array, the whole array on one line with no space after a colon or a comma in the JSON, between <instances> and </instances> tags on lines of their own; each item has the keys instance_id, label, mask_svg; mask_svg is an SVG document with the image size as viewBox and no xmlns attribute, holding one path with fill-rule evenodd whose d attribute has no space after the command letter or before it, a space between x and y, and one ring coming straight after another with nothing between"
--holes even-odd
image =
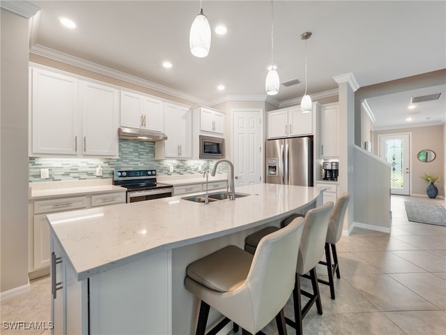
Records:
<instances>
[{"instance_id":1,"label":"white upper cabinet between range hood and microwave","mask_svg":"<svg viewBox=\"0 0 446 335\"><path fill-rule=\"evenodd\" d=\"M164 105L167 140L155 142L155 158L192 158L192 110L183 105Z\"/></svg>"}]
</instances>

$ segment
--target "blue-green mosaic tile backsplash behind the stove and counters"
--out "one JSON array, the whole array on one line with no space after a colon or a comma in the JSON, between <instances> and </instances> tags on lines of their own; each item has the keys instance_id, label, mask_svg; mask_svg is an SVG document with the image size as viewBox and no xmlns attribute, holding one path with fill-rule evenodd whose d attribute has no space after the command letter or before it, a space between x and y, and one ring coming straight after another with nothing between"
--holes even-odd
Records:
<instances>
[{"instance_id":1,"label":"blue-green mosaic tile backsplash behind the stove and counters","mask_svg":"<svg viewBox=\"0 0 446 335\"><path fill-rule=\"evenodd\" d=\"M214 163L213 160L155 161L155 143L119 140L119 158L30 157L29 182L110 179L113 178L114 170L155 169L158 175L199 174L212 171ZM102 177L95 175L98 166L102 166ZM171 166L174 172L169 172ZM40 178L42 168L49 169L49 178ZM227 165L220 164L217 173L227 173Z\"/></svg>"}]
</instances>

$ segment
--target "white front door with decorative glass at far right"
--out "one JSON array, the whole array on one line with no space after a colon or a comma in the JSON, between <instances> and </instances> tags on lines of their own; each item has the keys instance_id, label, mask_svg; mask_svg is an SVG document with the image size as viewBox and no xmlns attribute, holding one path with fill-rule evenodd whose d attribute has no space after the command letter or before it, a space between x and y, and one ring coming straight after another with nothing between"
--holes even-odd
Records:
<instances>
[{"instance_id":1,"label":"white front door with decorative glass at far right","mask_svg":"<svg viewBox=\"0 0 446 335\"><path fill-rule=\"evenodd\" d=\"M410 194L410 134L379 135L379 156L392 165L390 191Z\"/></svg>"}]
</instances>

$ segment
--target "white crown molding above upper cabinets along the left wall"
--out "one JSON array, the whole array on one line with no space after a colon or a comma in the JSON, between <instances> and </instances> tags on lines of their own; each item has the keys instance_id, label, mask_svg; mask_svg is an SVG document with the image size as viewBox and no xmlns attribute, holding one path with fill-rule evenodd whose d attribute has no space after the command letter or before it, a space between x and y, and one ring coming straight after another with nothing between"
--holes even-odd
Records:
<instances>
[{"instance_id":1,"label":"white crown molding above upper cabinets along the left wall","mask_svg":"<svg viewBox=\"0 0 446 335\"><path fill-rule=\"evenodd\" d=\"M114 77L118 80L124 80L125 82L130 82L132 84L137 84L141 87L146 87L148 89L153 89L155 91L159 91L165 94L169 94L171 96L176 96L177 98L181 98L187 101L191 101L193 103L197 103L197 105L208 105L207 101L204 101L197 96L192 96L190 94L185 94L182 91L177 91L175 89L171 89L169 87L165 87L160 84L156 84L155 82L151 82L149 80L144 80L140 77L136 77L134 75L128 75L127 73L123 73L118 70L114 70L112 68L107 68L107 66L102 66L99 64L95 64L91 61L86 61L85 59L80 59L78 57L71 56L70 54L66 54L63 52L59 52L49 47L43 47L42 45L33 45L30 47L29 52L33 54L37 54L42 57L47 57L49 59L54 59L55 61L61 61L66 64L70 64L72 66L77 66L78 68L84 68L85 70L90 70L95 73L100 73L102 75L107 75L109 77Z\"/></svg>"}]
</instances>

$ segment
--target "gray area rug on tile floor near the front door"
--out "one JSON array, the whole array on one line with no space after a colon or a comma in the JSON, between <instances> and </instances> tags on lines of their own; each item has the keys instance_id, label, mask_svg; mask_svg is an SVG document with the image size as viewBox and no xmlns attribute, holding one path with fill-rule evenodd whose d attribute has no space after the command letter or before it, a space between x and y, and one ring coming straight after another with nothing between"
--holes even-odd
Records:
<instances>
[{"instance_id":1,"label":"gray area rug on tile floor near the front door","mask_svg":"<svg viewBox=\"0 0 446 335\"><path fill-rule=\"evenodd\" d=\"M409 221L446 225L446 209L440 204L405 201Z\"/></svg>"}]
</instances>

